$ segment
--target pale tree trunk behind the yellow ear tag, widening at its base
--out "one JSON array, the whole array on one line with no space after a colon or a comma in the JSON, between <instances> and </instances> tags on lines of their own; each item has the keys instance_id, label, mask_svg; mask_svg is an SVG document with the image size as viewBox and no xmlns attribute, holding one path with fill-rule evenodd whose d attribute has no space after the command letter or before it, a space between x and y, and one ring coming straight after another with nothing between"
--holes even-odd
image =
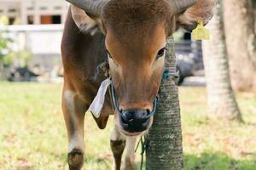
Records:
<instances>
[{"instance_id":1,"label":"pale tree trunk behind the yellow ear tag, widening at its base","mask_svg":"<svg viewBox=\"0 0 256 170\"><path fill-rule=\"evenodd\" d=\"M241 119L241 112L231 88L229 60L224 36L222 0L217 13L208 24L211 39L203 42L203 56L207 79L208 116L227 120Z\"/></svg>"}]
</instances>

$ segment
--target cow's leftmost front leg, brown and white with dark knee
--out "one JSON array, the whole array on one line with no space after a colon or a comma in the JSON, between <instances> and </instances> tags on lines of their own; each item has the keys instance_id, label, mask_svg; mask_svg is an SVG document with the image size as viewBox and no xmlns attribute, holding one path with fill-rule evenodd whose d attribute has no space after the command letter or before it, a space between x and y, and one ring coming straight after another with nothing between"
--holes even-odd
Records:
<instances>
[{"instance_id":1,"label":"cow's leftmost front leg, brown and white with dark knee","mask_svg":"<svg viewBox=\"0 0 256 170\"><path fill-rule=\"evenodd\" d=\"M62 110L67 127L69 169L79 170L84 162L84 114L87 107L73 91L64 89Z\"/></svg>"}]
</instances>

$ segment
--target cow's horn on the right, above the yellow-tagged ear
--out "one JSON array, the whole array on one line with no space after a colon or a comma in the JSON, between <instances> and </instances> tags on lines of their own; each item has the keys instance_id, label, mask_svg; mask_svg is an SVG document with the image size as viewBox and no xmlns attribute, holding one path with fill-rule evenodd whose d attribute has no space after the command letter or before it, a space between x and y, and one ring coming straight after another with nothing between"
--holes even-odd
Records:
<instances>
[{"instance_id":1,"label":"cow's horn on the right, above the yellow-tagged ear","mask_svg":"<svg viewBox=\"0 0 256 170\"><path fill-rule=\"evenodd\" d=\"M200 0L166 0L172 8L172 13L177 14L180 13L187 8L193 6L195 3L198 3Z\"/></svg>"}]
</instances>

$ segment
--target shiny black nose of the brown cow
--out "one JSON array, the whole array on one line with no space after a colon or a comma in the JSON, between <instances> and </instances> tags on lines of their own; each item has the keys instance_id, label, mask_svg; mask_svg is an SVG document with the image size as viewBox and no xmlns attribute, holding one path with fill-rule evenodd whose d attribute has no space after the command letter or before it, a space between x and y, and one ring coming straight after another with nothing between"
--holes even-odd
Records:
<instances>
[{"instance_id":1,"label":"shiny black nose of the brown cow","mask_svg":"<svg viewBox=\"0 0 256 170\"><path fill-rule=\"evenodd\" d=\"M143 132L148 128L150 111L121 111L120 122L125 131L130 133Z\"/></svg>"}]
</instances>

